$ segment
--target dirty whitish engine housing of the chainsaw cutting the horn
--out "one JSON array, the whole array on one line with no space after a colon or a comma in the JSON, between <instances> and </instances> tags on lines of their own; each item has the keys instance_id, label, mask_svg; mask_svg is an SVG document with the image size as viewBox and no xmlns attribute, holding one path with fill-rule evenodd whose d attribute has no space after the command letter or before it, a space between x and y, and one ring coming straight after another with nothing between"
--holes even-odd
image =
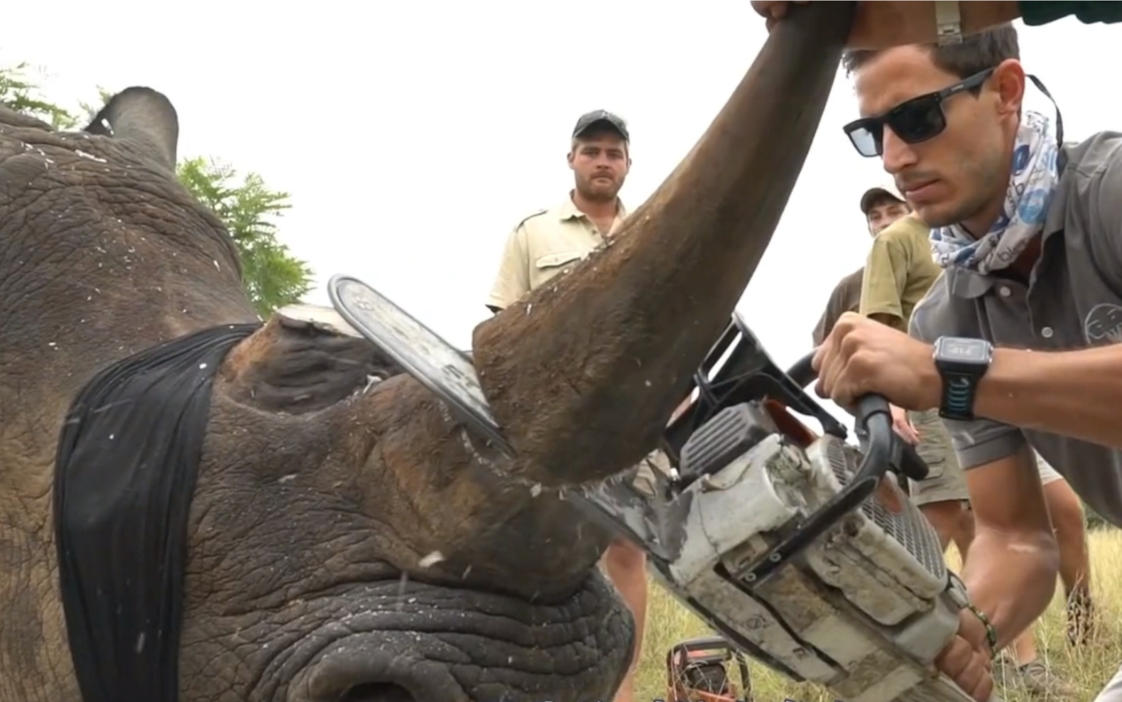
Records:
<instances>
[{"instance_id":1,"label":"dirty whitish engine housing of the chainsaw cutting the horn","mask_svg":"<svg viewBox=\"0 0 1122 702\"><path fill-rule=\"evenodd\" d=\"M730 455L739 437L758 440ZM958 628L964 593L953 592L962 585L911 501L892 513L868 498L790 562L753 577L752 566L842 492L862 455L830 435L794 445L758 404L741 404L695 435L683 467L702 472L688 461L721 456L724 466L707 466L675 498L689 509L678 557L656 562L663 586L775 667L847 702L946 699L925 687L938 684L932 662Z\"/></svg>"}]
</instances>

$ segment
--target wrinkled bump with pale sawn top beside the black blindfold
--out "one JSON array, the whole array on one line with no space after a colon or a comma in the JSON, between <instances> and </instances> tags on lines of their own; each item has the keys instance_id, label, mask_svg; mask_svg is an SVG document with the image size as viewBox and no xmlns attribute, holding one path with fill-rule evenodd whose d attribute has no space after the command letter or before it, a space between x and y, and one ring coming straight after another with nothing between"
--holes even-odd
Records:
<instances>
[{"instance_id":1,"label":"wrinkled bump with pale sawn top beside the black blindfold","mask_svg":"<svg viewBox=\"0 0 1122 702\"><path fill-rule=\"evenodd\" d=\"M303 414L403 372L357 334L318 319L275 313L230 350L219 376L226 394L237 402Z\"/></svg>"}]
</instances>

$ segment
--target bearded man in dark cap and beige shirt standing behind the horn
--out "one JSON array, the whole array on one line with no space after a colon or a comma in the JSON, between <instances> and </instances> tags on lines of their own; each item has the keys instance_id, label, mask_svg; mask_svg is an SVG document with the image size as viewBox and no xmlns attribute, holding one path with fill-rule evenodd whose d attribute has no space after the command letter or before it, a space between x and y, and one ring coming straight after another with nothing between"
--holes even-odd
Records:
<instances>
[{"instance_id":1,"label":"bearded man in dark cap and beige shirt standing behind the horn","mask_svg":"<svg viewBox=\"0 0 1122 702\"><path fill-rule=\"evenodd\" d=\"M619 226L627 215L618 195L631 168L629 142L626 122L610 112L596 110L577 120L568 155L574 188L557 206L534 212L511 231L487 298L491 311L498 312L567 271ZM635 486L651 492L652 465L665 471L662 461L663 456L652 454L636 466ZM608 547L603 565L635 618L634 658L615 699L633 702L646 620L646 555L619 539Z\"/></svg>"}]
</instances>

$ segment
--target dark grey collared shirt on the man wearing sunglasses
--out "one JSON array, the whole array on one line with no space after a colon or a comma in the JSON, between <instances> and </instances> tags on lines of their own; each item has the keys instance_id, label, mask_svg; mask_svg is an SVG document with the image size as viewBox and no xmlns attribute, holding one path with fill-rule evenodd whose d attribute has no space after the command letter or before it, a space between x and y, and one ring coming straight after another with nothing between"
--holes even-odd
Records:
<instances>
[{"instance_id":1,"label":"dark grey collared shirt on the man wearing sunglasses","mask_svg":"<svg viewBox=\"0 0 1122 702\"><path fill-rule=\"evenodd\" d=\"M1122 133L1100 133L1064 152L1067 163L1029 285L948 268L916 307L912 336L927 343L974 337L1036 350L1122 341ZM1122 452L988 419L947 427L964 469L1028 443L1092 509L1122 526Z\"/></svg>"}]
</instances>

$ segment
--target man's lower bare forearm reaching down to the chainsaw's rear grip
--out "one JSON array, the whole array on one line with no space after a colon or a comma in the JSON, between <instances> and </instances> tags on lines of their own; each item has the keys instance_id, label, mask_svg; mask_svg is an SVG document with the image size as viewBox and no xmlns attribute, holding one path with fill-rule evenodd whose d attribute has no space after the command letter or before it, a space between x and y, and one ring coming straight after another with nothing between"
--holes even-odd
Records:
<instances>
[{"instance_id":1,"label":"man's lower bare forearm reaching down to the chainsaw's rear grip","mask_svg":"<svg viewBox=\"0 0 1122 702\"><path fill-rule=\"evenodd\" d=\"M962 577L971 602L996 630L999 649L1012 644L1043 613L1055 593L1058 572L1055 539L980 526ZM1017 595L1011 598L1010 593Z\"/></svg>"}]
</instances>

